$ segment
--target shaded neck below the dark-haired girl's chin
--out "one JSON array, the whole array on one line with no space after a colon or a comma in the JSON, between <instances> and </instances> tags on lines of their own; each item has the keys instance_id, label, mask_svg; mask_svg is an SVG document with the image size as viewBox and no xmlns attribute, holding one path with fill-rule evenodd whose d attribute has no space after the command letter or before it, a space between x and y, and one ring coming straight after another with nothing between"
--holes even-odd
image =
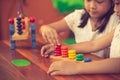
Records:
<instances>
[{"instance_id":1,"label":"shaded neck below the dark-haired girl's chin","mask_svg":"<svg viewBox=\"0 0 120 80\"><path fill-rule=\"evenodd\" d=\"M92 31L96 31L99 26L103 23L104 19L90 18L90 23L92 25Z\"/></svg>"}]
</instances>

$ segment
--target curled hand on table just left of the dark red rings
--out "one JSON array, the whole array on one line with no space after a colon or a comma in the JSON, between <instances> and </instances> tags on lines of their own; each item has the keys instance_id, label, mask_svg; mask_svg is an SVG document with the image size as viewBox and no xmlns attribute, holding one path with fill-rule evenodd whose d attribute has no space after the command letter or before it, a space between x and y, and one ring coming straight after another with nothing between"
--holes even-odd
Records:
<instances>
[{"instance_id":1,"label":"curled hand on table just left of the dark red rings","mask_svg":"<svg viewBox=\"0 0 120 80\"><path fill-rule=\"evenodd\" d=\"M43 57L49 57L50 53L54 52L54 44L46 44L41 48L41 55Z\"/></svg>"}]
</instances>

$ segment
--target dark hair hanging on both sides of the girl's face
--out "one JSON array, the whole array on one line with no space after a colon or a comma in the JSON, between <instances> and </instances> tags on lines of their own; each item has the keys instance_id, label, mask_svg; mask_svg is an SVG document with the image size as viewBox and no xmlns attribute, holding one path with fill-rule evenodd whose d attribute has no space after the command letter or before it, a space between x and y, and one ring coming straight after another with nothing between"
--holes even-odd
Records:
<instances>
[{"instance_id":1,"label":"dark hair hanging on both sides of the girl's face","mask_svg":"<svg viewBox=\"0 0 120 80\"><path fill-rule=\"evenodd\" d=\"M105 30L106 25L107 25L107 23L110 19L110 16L113 13L114 13L114 5L113 5L113 1L111 0L111 8L109 9L109 11L103 17L101 17L101 19L105 18L105 21L98 27L99 33L103 32ZM89 13L85 10L85 13L81 17L82 23L80 23L80 25L78 27L84 28L85 25L87 24L87 21L88 21L89 17L90 17Z\"/></svg>"}]
</instances>

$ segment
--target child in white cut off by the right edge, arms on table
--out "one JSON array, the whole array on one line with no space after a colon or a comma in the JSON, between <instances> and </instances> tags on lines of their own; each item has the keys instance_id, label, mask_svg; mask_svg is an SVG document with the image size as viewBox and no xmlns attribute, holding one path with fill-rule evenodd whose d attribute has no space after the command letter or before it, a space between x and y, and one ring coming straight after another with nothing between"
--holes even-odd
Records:
<instances>
[{"instance_id":1,"label":"child in white cut off by the right edge, arms on table","mask_svg":"<svg viewBox=\"0 0 120 80\"><path fill-rule=\"evenodd\" d=\"M113 1L115 3L114 10L120 17L120 0ZM115 31L112 31L111 33L99 39L83 42L79 45L81 45L79 47L80 52L96 51L111 45L110 58L89 63L77 63L73 61L56 61L51 64L48 70L48 74L75 75L120 73L120 24L117 26Z\"/></svg>"}]
</instances>

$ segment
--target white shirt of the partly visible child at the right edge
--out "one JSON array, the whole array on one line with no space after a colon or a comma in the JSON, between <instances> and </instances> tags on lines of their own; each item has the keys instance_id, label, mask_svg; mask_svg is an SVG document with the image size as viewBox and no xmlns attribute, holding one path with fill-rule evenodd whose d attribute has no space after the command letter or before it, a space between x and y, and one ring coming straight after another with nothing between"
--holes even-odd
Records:
<instances>
[{"instance_id":1,"label":"white shirt of the partly visible child at the right edge","mask_svg":"<svg viewBox=\"0 0 120 80\"><path fill-rule=\"evenodd\" d=\"M120 58L120 24L116 27L110 47L110 58Z\"/></svg>"}]
</instances>

